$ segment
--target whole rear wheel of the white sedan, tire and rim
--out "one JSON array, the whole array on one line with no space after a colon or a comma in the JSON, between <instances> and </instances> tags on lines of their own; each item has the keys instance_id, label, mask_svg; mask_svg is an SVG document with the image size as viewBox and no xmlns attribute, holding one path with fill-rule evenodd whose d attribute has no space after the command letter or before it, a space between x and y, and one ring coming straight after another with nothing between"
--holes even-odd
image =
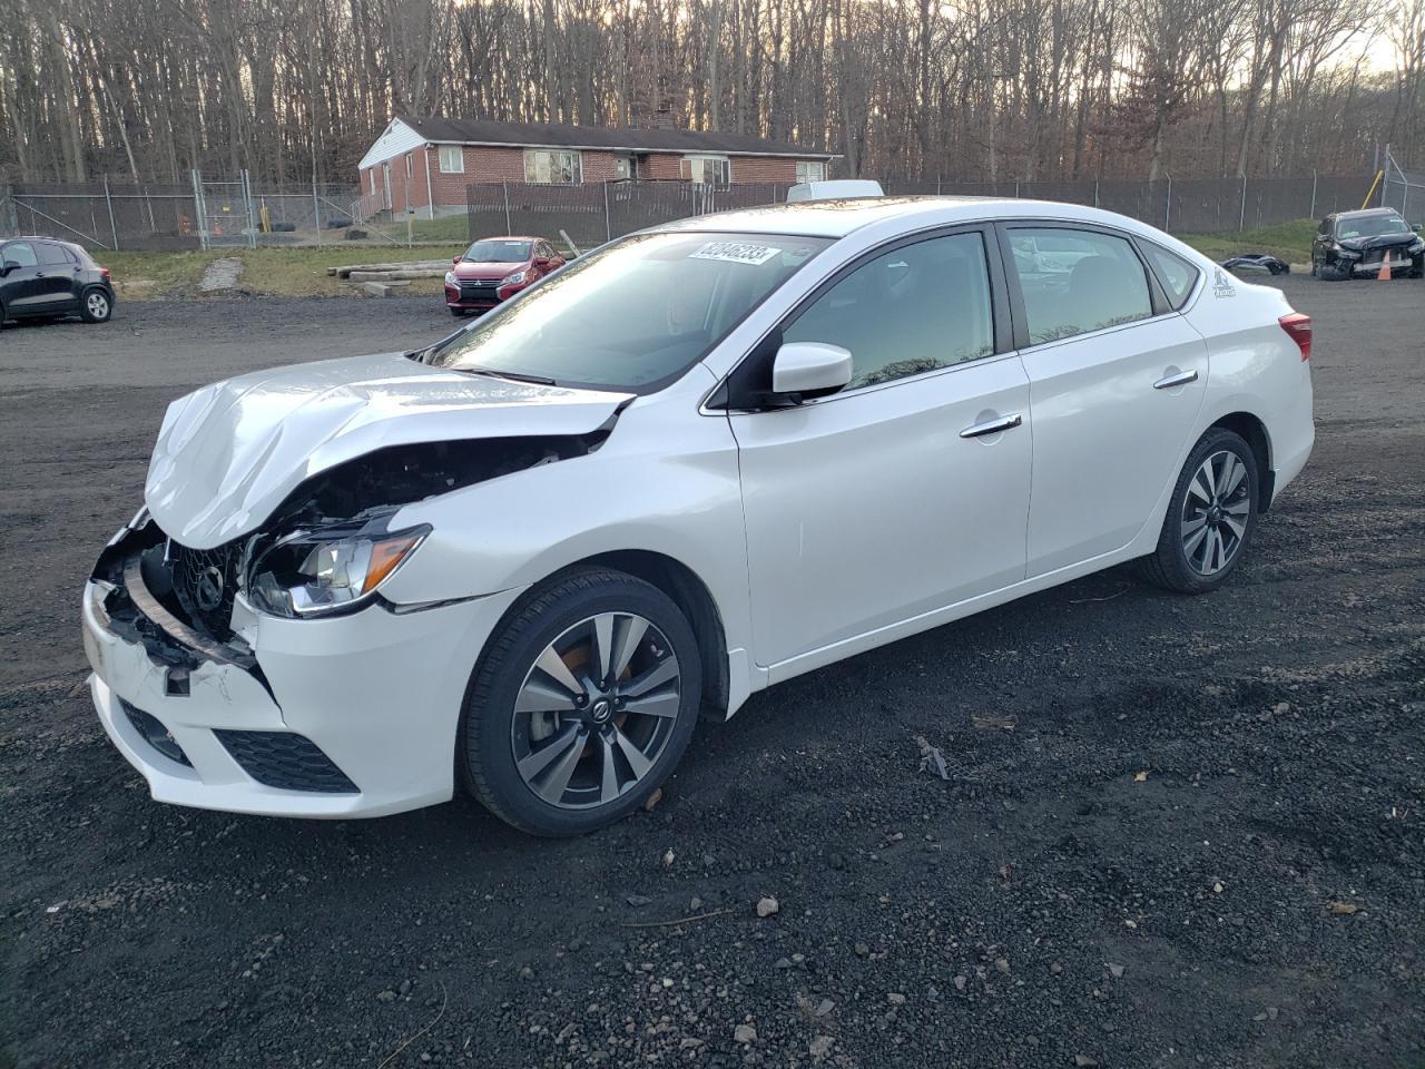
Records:
<instances>
[{"instance_id":1,"label":"whole rear wheel of the white sedan, tire and rim","mask_svg":"<svg viewBox=\"0 0 1425 1069\"><path fill-rule=\"evenodd\" d=\"M1210 429L1183 465L1157 550L1139 564L1143 577L1183 594L1226 583L1251 542L1260 486L1251 446L1226 428Z\"/></svg>"}]
</instances>

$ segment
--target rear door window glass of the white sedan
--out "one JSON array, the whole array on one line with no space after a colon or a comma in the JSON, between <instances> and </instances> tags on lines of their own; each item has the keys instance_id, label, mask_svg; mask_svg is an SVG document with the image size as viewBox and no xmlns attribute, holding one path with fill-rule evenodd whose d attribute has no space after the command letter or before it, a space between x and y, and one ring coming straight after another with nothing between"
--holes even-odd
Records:
<instances>
[{"instance_id":1,"label":"rear door window glass of the white sedan","mask_svg":"<svg viewBox=\"0 0 1425 1069\"><path fill-rule=\"evenodd\" d=\"M1143 261L1124 238L1087 229L1016 227L1010 247L1025 294L1030 345L1153 315Z\"/></svg>"}]
</instances>

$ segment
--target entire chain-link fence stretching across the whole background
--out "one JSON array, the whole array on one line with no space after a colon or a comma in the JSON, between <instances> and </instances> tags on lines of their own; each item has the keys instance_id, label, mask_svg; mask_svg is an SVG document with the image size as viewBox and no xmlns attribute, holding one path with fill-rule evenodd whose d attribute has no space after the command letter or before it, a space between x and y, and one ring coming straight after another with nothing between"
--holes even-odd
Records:
<instances>
[{"instance_id":1,"label":"entire chain-link fence stretching across the whole background","mask_svg":"<svg viewBox=\"0 0 1425 1069\"><path fill-rule=\"evenodd\" d=\"M1408 220L1425 215L1425 175L1387 153L1374 202ZM1164 178L1146 181L886 181L888 194L1019 197L1106 208L1176 234L1218 234L1359 208L1371 175L1301 178ZM580 248L660 222L727 208L774 204L772 182L710 185L624 180L584 185L475 182L466 187L472 239L487 234L567 235ZM245 174L182 184L48 182L0 185L0 237L51 234L91 249L185 249L222 245L398 242L356 229L368 215L355 185L254 185ZM353 222L355 221L355 222Z\"/></svg>"}]
</instances>

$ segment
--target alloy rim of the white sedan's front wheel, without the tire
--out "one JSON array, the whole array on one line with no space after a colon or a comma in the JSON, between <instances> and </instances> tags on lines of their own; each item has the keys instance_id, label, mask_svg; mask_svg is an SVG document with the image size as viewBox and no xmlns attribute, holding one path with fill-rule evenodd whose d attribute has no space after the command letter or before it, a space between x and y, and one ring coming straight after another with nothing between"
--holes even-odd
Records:
<instances>
[{"instance_id":1,"label":"alloy rim of the white sedan's front wheel, without the tire","mask_svg":"<svg viewBox=\"0 0 1425 1069\"><path fill-rule=\"evenodd\" d=\"M653 623L633 613L587 617L524 674L510 725L516 768L550 805L606 805L648 775L681 706L678 659Z\"/></svg>"}]
</instances>

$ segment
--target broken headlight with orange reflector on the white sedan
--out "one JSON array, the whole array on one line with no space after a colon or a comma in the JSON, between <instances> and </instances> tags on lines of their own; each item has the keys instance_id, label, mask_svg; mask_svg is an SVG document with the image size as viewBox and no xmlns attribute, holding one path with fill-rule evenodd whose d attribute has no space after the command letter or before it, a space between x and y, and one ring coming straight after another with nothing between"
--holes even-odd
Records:
<instances>
[{"instance_id":1,"label":"broken headlight with orange reflector on the white sedan","mask_svg":"<svg viewBox=\"0 0 1425 1069\"><path fill-rule=\"evenodd\" d=\"M272 616L331 616L369 600L430 533L301 532L261 553L248 574L248 600Z\"/></svg>"}]
</instances>

